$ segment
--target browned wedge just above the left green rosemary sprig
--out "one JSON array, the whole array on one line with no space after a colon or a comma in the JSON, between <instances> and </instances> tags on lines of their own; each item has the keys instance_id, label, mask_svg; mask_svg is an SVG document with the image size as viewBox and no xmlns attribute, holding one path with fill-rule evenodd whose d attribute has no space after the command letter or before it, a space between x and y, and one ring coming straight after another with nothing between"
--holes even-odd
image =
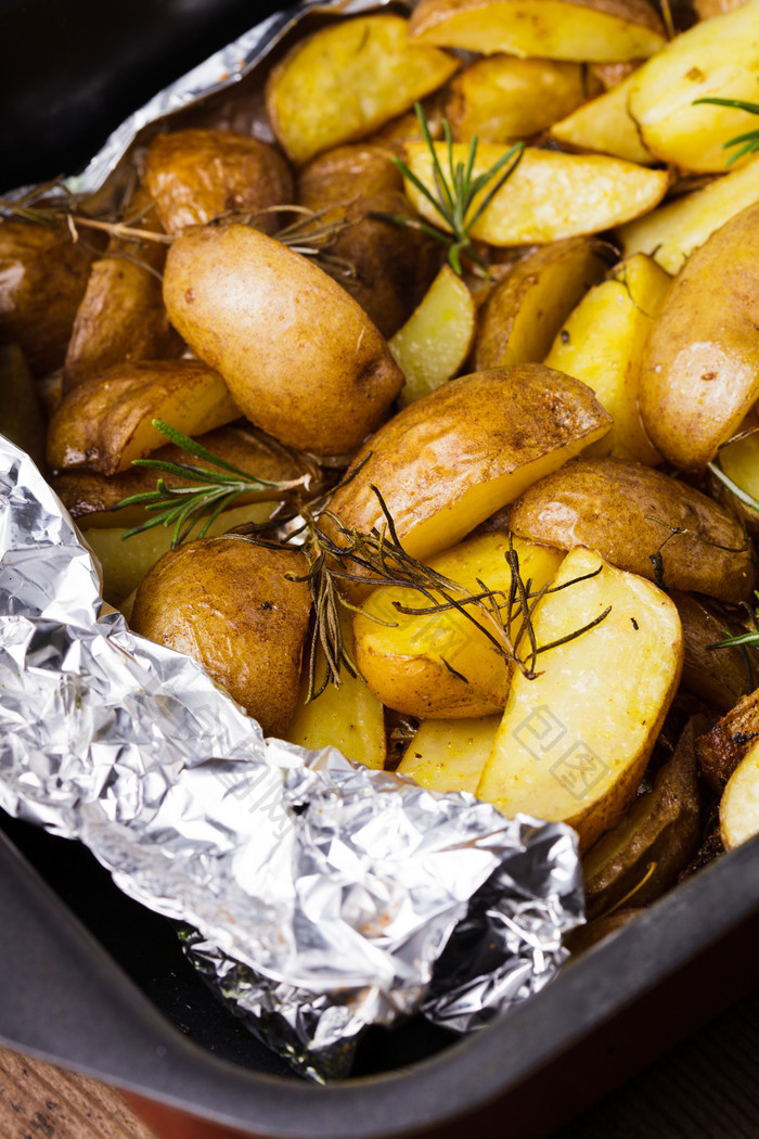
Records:
<instances>
[{"instance_id":1,"label":"browned wedge just above the left green rosemary sprig","mask_svg":"<svg viewBox=\"0 0 759 1139\"><path fill-rule=\"evenodd\" d=\"M48 464L115 475L165 444L154 419L192 436L239 416L224 380L199 360L116 364L64 399L48 429Z\"/></svg>"}]
</instances>

